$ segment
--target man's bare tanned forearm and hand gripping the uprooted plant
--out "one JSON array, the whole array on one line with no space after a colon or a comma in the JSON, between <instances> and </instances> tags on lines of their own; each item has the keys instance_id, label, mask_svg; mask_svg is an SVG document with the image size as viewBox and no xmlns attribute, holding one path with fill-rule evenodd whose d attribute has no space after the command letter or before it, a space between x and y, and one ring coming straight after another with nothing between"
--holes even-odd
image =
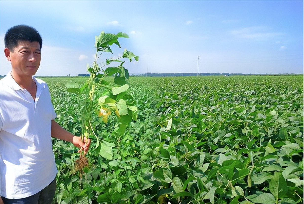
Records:
<instances>
[{"instance_id":1,"label":"man's bare tanned forearm and hand gripping the uprooted plant","mask_svg":"<svg viewBox=\"0 0 304 204\"><path fill-rule=\"evenodd\" d=\"M84 149L85 154L88 152L90 144L91 144L91 140L88 139L88 142L85 145L83 143L83 141L81 141L81 137L74 136L70 132L67 132L54 120L52 120L51 137L71 142L74 146L76 146L78 148L82 147ZM80 150L78 152L80 152ZM1 204L1 202L0 202L0 204Z\"/></svg>"}]
</instances>

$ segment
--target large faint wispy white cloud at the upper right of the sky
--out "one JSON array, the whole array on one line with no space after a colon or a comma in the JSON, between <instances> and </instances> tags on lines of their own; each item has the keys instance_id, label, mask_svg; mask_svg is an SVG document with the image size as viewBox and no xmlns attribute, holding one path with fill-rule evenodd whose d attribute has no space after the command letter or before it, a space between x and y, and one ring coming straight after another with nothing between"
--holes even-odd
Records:
<instances>
[{"instance_id":1,"label":"large faint wispy white cloud at the upper right of the sky","mask_svg":"<svg viewBox=\"0 0 304 204\"><path fill-rule=\"evenodd\" d=\"M269 28L267 26L252 26L247 28L240 28L230 31L230 34L239 38L250 38L257 40L266 40L271 37L284 35L284 33L279 32L268 32Z\"/></svg>"}]
</instances>

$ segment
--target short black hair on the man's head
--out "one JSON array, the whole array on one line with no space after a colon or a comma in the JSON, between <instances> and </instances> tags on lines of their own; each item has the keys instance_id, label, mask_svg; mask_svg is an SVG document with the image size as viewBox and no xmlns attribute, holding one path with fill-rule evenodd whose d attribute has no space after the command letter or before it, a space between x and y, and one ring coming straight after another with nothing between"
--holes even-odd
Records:
<instances>
[{"instance_id":1,"label":"short black hair on the man's head","mask_svg":"<svg viewBox=\"0 0 304 204\"><path fill-rule=\"evenodd\" d=\"M40 49L42 48L42 38L39 32L28 25L16 25L5 33L4 45L10 51L18 46L19 41L39 42Z\"/></svg>"}]
</instances>

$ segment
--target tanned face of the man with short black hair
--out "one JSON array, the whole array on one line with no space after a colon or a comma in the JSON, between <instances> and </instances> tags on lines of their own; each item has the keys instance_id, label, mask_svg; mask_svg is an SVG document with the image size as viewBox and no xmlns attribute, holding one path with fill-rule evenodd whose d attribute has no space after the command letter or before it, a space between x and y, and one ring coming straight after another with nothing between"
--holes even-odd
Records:
<instances>
[{"instance_id":1,"label":"tanned face of the man with short black hair","mask_svg":"<svg viewBox=\"0 0 304 204\"><path fill-rule=\"evenodd\" d=\"M12 70L19 76L36 74L41 60L39 42L19 41L12 51L5 48L5 56L12 64Z\"/></svg>"}]
</instances>

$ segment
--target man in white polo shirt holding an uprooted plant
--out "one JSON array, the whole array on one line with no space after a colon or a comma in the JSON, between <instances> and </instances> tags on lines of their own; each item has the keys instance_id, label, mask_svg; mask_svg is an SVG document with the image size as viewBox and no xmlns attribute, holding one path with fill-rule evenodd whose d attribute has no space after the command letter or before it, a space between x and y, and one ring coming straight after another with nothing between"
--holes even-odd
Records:
<instances>
[{"instance_id":1,"label":"man in white polo shirt holding an uprooted plant","mask_svg":"<svg viewBox=\"0 0 304 204\"><path fill-rule=\"evenodd\" d=\"M17 25L4 38L12 70L0 80L0 204L50 204L57 168L51 137L88 152L81 137L54 121L48 86L35 79L42 38L35 28Z\"/></svg>"}]
</instances>

